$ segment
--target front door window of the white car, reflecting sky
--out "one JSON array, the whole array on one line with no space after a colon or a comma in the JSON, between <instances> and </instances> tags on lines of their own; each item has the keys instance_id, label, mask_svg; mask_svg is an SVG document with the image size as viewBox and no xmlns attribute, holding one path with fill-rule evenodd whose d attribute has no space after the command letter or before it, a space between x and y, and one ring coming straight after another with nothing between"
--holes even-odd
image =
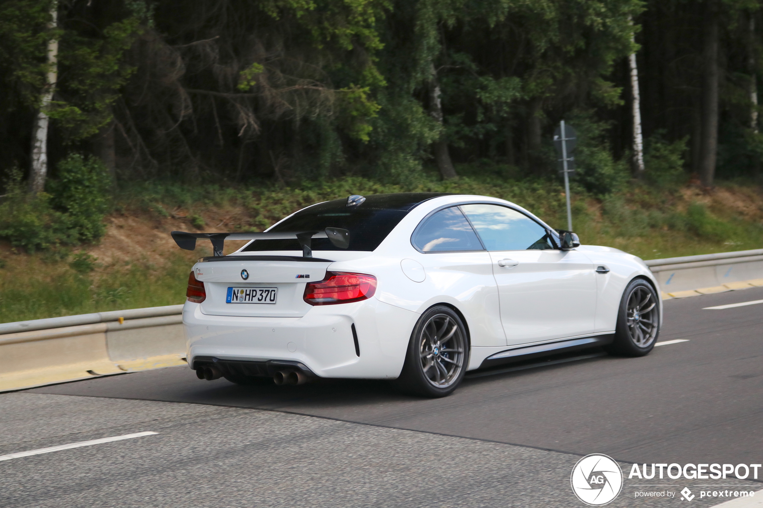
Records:
<instances>
[{"instance_id":1,"label":"front door window of the white car, reflecting sky","mask_svg":"<svg viewBox=\"0 0 763 508\"><path fill-rule=\"evenodd\" d=\"M488 251L554 248L546 229L524 214L498 205L462 205Z\"/></svg>"}]
</instances>

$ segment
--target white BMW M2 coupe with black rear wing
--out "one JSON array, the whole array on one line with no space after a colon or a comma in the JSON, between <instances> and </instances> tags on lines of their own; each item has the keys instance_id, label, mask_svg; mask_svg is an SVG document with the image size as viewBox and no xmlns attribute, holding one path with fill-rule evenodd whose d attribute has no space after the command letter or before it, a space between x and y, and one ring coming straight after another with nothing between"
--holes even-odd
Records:
<instances>
[{"instance_id":1,"label":"white BMW M2 coupe with black rear wing","mask_svg":"<svg viewBox=\"0 0 763 508\"><path fill-rule=\"evenodd\" d=\"M581 245L488 196L399 193L317 203L262 233L211 240L183 323L199 379L297 385L390 379L449 395L468 370L604 347L649 353L662 301L649 268ZM251 240L223 255L226 239Z\"/></svg>"}]
</instances>

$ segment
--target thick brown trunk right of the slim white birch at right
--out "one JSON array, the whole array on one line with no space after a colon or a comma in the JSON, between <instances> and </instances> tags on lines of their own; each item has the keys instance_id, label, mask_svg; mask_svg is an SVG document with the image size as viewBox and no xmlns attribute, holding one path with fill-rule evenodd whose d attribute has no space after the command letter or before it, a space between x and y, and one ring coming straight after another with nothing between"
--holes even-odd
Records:
<instances>
[{"instance_id":1,"label":"thick brown trunk right of the slim white birch at right","mask_svg":"<svg viewBox=\"0 0 763 508\"><path fill-rule=\"evenodd\" d=\"M715 2L707 0L705 12L702 76L702 137L700 139L700 181L713 187L718 152L718 18Z\"/></svg>"}]
</instances>

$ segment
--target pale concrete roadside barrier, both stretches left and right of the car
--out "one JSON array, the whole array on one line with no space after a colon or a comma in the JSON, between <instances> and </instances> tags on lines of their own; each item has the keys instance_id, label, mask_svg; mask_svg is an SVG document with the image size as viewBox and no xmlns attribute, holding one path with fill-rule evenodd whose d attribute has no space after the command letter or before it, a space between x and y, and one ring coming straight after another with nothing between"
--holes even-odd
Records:
<instances>
[{"instance_id":1,"label":"pale concrete roadside barrier, both stretches left and right of the car","mask_svg":"<svg viewBox=\"0 0 763 508\"><path fill-rule=\"evenodd\" d=\"M665 298L763 286L763 249L646 260ZM182 305L0 324L0 391L184 365Z\"/></svg>"}]
</instances>

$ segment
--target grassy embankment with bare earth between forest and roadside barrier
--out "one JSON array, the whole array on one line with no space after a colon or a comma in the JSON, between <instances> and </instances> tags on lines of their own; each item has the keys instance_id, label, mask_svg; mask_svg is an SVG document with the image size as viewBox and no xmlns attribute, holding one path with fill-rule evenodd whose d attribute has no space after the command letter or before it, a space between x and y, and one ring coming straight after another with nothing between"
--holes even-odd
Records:
<instances>
[{"instance_id":1,"label":"grassy embankment with bare earth between forest and roadside barrier","mask_svg":"<svg viewBox=\"0 0 763 508\"><path fill-rule=\"evenodd\" d=\"M564 228L562 186L507 181L497 174L459 181L379 184L359 177L304 184L221 188L140 184L115 196L98 244L35 254L0 244L0 322L182 303L189 267L209 255L180 251L169 231L261 231L288 213L349 194L434 191L501 197ZM597 198L573 187L573 226L585 244L617 247L642 257L687 256L763 248L763 197L752 185L631 187ZM204 242L206 243L206 242ZM235 247L226 244L226 251Z\"/></svg>"}]
</instances>

